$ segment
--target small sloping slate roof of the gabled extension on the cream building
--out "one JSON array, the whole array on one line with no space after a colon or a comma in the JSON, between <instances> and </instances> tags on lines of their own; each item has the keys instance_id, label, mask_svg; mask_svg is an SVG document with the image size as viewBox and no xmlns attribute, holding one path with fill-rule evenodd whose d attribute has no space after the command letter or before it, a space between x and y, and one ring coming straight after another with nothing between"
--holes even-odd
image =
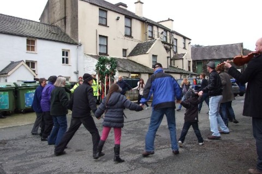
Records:
<instances>
[{"instance_id":1,"label":"small sloping slate roof of the gabled extension on the cream building","mask_svg":"<svg viewBox=\"0 0 262 174\"><path fill-rule=\"evenodd\" d=\"M128 56L137 56L141 54L146 54L148 50L152 47L152 45L155 43L156 39L148 40L145 42L138 43L135 48L129 53Z\"/></svg>"}]
</instances>

